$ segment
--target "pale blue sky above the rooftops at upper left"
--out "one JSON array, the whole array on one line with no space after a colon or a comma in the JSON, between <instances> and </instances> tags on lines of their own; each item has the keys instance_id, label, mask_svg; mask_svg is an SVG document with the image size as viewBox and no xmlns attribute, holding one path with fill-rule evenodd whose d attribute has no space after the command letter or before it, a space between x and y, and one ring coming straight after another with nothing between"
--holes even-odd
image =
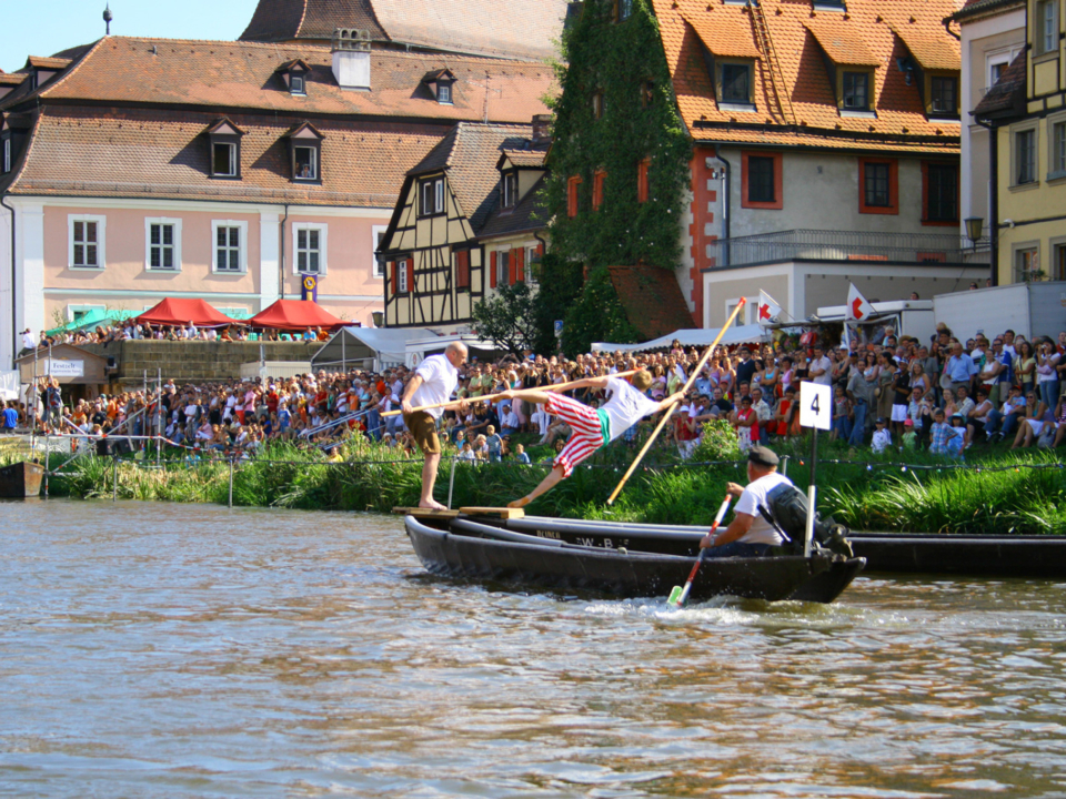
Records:
<instances>
[{"instance_id":1,"label":"pale blue sky above the rooftops at upper left","mask_svg":"<svg viewBox=\"0 0 1066 799\"><path fill-rule=\"evenodd\" d=\"M51 55L103 36L105 0L30 0L0 3L0 69L14 72L27 55ZM237 39L255 0L111 0L112 36Z\"/></svg>"}]
</instances>

